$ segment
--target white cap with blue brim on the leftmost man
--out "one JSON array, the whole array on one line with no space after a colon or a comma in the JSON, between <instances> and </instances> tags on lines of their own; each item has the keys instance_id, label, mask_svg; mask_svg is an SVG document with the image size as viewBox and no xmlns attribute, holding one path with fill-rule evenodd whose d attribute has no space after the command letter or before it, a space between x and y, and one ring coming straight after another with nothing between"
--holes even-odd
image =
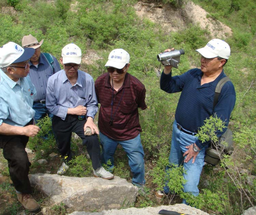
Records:
<instances>
[{"instance_id":1,"label":"white cap with blue brim on the leftmost man","mask_svg":"<svg viewBox=\"0 0 256 215\"><path fill-rule=\"evenodd\" d=\"M35 53L33 48L23 49L15 42L8 42L0 48L0 68L28 60Z\"/></svg>"}]
</instances>

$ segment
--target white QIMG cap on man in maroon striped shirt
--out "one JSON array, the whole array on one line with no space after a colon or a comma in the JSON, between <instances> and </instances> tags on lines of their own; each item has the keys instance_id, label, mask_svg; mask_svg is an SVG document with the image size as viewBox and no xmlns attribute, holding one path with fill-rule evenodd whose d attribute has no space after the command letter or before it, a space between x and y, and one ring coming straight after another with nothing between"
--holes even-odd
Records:
<instances>
[{"instance_id":1,"label":"white QIMG cap on man in maroon striped shirt","mask_svg":"<svg viewBox=\"0 0 256 215\"><path fill-rule=\"evenodd\" d=\"M130 55L123 49L114 49L108 55L108 62L105 66L115 67L122 69L126 64L130 62Z\"/></svg>"}]
</instances>

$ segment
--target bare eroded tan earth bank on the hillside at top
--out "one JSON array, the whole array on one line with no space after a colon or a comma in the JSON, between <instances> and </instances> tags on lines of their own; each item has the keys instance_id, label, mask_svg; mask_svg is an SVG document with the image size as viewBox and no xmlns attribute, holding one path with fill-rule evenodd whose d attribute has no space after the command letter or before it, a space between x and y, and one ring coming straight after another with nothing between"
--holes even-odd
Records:
<instances>
[{"instance_id":1,"label":"bare eroded tan earth bank on the hillside at top","mask_svg":"<svg viewBox=\"0 0 256 215\"><path fill-rule=\"evenodd\" d=\"M198 23L203 29L207 28L212 37L224 39L226 36L232 35L231 28L220 21L206 18L208 13L190 1L184 3L179 9L150 1L139 1L134 5L134 8L139 17L147 18L161 25L166 29L166 32L184 29L188 23Z\"/></svg>"}]
</instances>

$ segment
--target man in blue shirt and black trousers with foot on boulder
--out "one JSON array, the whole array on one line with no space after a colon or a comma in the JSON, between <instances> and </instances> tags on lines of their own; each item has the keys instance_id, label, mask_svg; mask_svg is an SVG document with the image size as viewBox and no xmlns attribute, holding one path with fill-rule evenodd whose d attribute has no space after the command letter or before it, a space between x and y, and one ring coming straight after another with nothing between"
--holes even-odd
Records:
<instances>
[{"instance_id":1,"label":"man in blue shirt and black trousers with foot on boulder","mask_svg":"<svg viewBox=\"0 0 256 215\"><path fill-rule=\"evenodd\" d=\"M78 70L81 60L81 49L74 43L66 45L60 58L64 69L52 75L47 83L46 107L54 115L52 129L64 159L57 174L63 175L69 168L68 162L72 159L70 140L72 132L75 132L87 147L94 176L113 179L114 175L100 163L99 131L93 122L98 102L92 76ZM92 135L85 136L86 127L91 128Z\"/></svg>"}]
</instances>

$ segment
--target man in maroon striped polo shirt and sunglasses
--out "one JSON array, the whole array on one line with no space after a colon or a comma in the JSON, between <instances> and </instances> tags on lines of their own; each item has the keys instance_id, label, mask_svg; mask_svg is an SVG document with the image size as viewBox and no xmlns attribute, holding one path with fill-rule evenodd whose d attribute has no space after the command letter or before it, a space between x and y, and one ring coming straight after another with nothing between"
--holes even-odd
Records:
<instances>
[{"instance_id":1,"label":"man in maroon striped polo shirt and sunglasses","mask_svg":"<svg viewBox=\"0 0 256 215\"><path fill-rule=\"evenodd\" d=\"M140 142L142 131L138 108L145 110L146 89L128 73L130 55L123 49L112 50L105 65L107 73L95 81L100 103L98 126L102 145L101 162L114 167L114 153L120 144L126 152L132 171L132 183L142 194L145 185L144 151Z\"/></svg>"}]
</instances>

